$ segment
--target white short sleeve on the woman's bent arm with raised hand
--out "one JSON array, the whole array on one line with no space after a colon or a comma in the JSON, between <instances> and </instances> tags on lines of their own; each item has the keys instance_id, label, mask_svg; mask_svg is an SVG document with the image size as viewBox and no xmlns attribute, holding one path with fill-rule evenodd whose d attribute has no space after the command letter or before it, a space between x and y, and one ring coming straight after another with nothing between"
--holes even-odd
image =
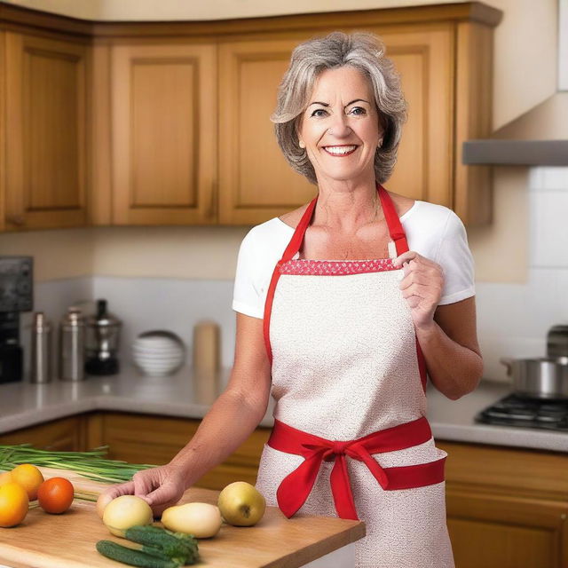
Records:
<instances>
[{"instance_id":1,"label":"white short sleeve on the woman's bent arm with raised hand","mask_svg":"<svg viewBox=\"0 0 568 568\"><path fill-rule=\"evenodd\" d=\"M465 227L454 211L446 218L436 262L444 271L444 289L438 305L454 304L475 296L473 256Z\"/></svg>"}]
</instances>

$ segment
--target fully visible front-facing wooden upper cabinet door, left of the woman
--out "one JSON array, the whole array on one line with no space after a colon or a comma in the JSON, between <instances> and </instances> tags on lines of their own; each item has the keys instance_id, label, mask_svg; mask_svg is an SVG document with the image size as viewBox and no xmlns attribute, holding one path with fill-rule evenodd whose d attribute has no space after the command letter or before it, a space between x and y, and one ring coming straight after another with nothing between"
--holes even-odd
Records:
<instances>
[{"instance_id":1,"label":"fully visible front-facing wooden upper cabinet door, left of the woman","mask_svg":"<svg viewBox=\"0 0 568 568\"><path fill-rule=\"evenodd\" d=\"M114 225L216 220L213 44L112 48Z\"/></svg>"}]
</instances>

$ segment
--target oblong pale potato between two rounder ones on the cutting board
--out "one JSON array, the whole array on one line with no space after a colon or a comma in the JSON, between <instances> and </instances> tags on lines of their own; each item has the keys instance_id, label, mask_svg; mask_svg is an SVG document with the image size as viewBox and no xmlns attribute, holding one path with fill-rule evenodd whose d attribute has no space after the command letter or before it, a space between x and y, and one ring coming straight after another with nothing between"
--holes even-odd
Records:
<instances>
[{"instance_id":1,"label":"oblong pale potato between two rounder ones on the cutting board","mask_svg":"<svg viewBox=\"0 0 568 568\"><path fill-rule=\"evenodd\" d=\"M167 529L193 534L196 539L215 536L222 523L219 508L209 503L185 503L170 507L162 513L162 525Z\"/></svg>"}]
</instances>

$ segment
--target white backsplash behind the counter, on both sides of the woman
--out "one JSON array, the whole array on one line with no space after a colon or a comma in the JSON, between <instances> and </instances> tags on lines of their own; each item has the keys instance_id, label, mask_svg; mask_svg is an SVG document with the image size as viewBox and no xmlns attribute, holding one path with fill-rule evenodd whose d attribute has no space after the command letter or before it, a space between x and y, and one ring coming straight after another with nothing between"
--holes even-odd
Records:
<instances>
[{"instance_id":1,"label":"white backsplash behind the counter, on both sides of the woman","mask_svg":"<svg viewBox=\"0 0 568 568\"><path fill-rule=\"evenodd\" d=\"M524 187L519 188L522 191ZM544 355L548 328L568 323L568 168L534 168L529 193L531 246L526 282L476 283L477 328L488 380L508 380L501 357ZM501 262L506 264L507 257ZM67 305L96 298L106 298L110 311L124 322L122 360L130 360L130 344L138 333L161 328L182 337L191 356L193 325L213 319L222 329L222 365L233 364L233 280L95 276L36 283L36 310L46 312L54 324ZM25 349L30 321L31 314L24 314ZM28 349L25 352L29 355Z\"/></svg>"}]
</instances>

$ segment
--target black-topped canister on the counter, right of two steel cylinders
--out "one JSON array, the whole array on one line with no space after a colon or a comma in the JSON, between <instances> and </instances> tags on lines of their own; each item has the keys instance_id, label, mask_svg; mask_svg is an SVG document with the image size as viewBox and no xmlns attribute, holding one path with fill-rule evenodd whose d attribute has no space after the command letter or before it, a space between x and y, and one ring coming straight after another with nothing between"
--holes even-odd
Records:
<instances>
[{"instance_id":1,"label":"black-topped canister on the counter, right of two steel cylinders","mask_svg":"<svg viewBox=\"0 0 568 568\"><path fill-rule=\"evenodd\" d=\"M97 301L97 312L86 321L86 361L88 375L115 375L122 321L107 310L106 300Z\"/></svg>"}]
</instances>

